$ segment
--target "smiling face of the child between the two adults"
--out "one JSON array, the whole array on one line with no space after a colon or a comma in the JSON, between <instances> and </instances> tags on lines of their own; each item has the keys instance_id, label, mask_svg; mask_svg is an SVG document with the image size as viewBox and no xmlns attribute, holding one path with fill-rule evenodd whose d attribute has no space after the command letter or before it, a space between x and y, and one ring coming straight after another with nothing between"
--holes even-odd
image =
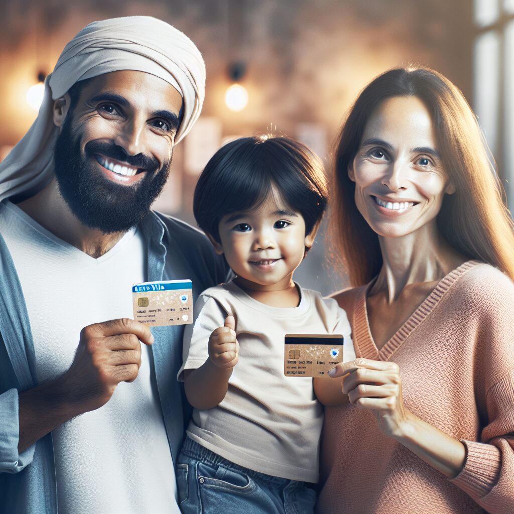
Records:
<instances>
[{"instance_id":1,"label":"smiling face of the child between the two adults","mask_svg":"<svg viewBox=\"0 0 514 514\"><path fill-rule=\"evenodd\" d=\"M305 235L303 216L292 211L275 189L257 209L224 216L218 228L221 244L215 243L216 251L225 254L240 281L262 290L291 284L316 233Z\"/></svg>"}]
</instances>

